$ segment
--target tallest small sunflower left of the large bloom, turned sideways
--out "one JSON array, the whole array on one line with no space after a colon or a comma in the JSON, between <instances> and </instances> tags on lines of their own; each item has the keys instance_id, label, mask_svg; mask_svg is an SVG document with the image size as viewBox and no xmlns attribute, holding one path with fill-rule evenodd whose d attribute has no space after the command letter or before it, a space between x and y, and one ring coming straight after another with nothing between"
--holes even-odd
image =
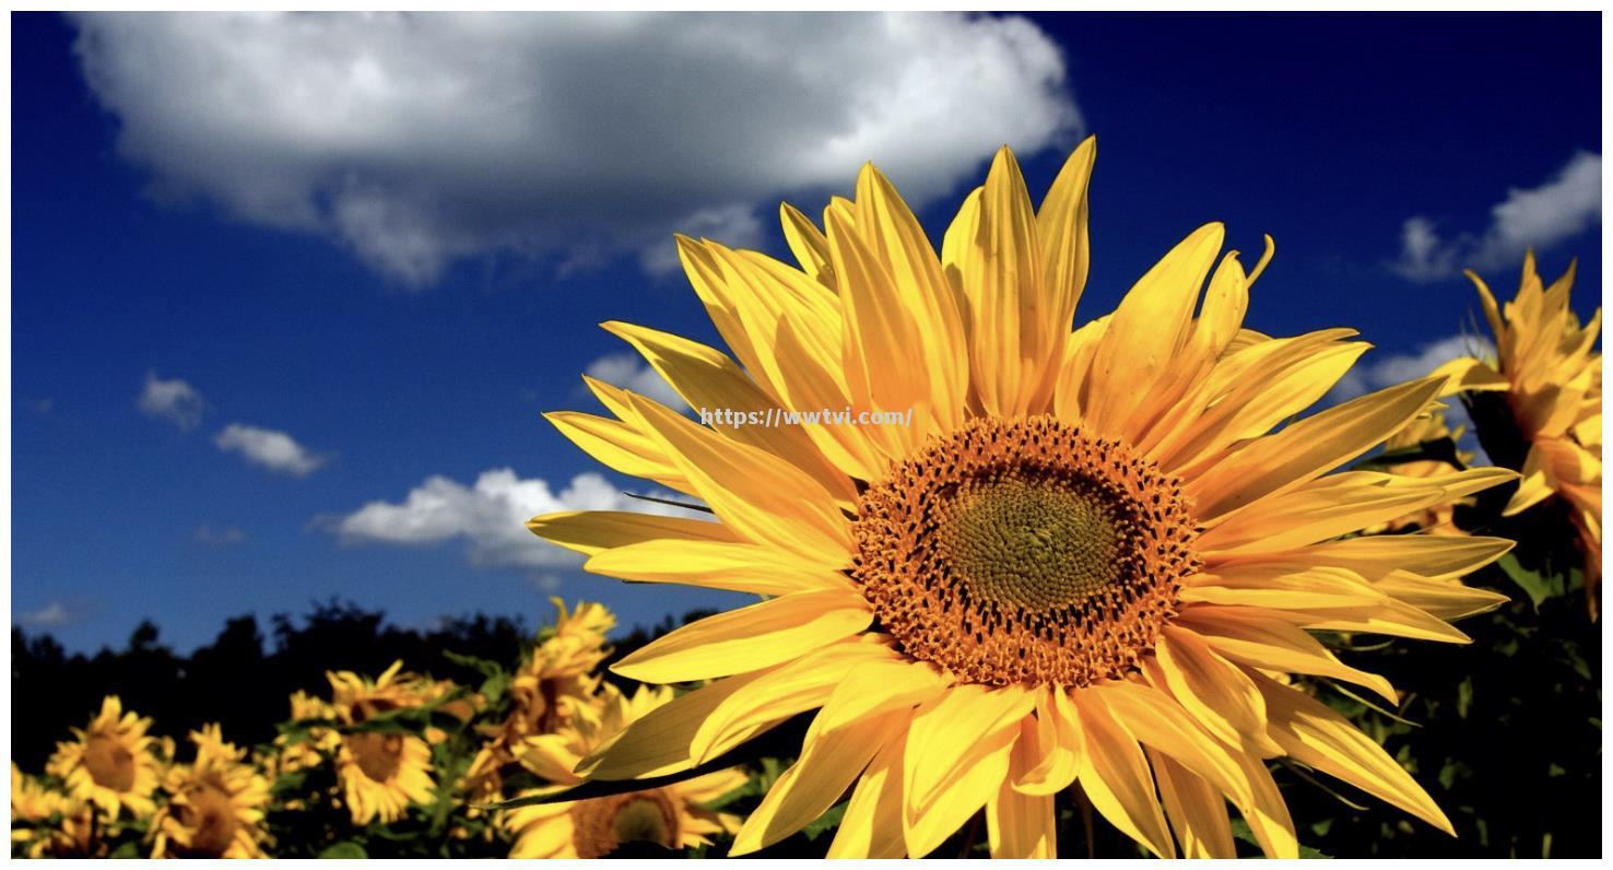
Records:
<instances>
[{"instance_id":1,"label":"tallest small sunflower left of the large bloom, turned sideways","mask_svg":"<svg viewBox=\"0 0 1613 870\"><path fill-rule=\"evenodd\" d=\"M616 617L603 604L577 602L566 612L558 597L550 602L558 612L555 626L511 678L510 715L486 730L487 741L466 773L466 789L481 797L500 794L502 770L515 762L526 738L592 717L597 707L600 680L594 671L610 655L605 636L616 628Z\"/></svg>"}]
</instances>

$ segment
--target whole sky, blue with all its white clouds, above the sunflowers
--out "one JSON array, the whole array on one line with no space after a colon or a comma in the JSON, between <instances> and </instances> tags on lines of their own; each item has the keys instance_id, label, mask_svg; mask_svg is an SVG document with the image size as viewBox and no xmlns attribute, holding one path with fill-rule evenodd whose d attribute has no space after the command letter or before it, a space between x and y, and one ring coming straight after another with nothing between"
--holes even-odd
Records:
<instances>
[{"instance_id":1,"label":"whole sky, blue with all its white clouds, above the sunflowers","mask_svg":"<svg viewBox=\"0 0 1613 870\"><path fill-rule=\"evenodd\" d=\"M815 213L866 158L939 237L992 145L1039 195L1095 132L1077 320L1223 220L1248 260L1277 241L1248 326L1360 329L1357 389L1450 347L1461 265L1510 292L1523 245L1579 257L1587 315L1598 34L13 16L13 623L95 649L150 617L189 649L331 596L400 625L723 602L582 575L505 521L632 486L579 479L602 470L539 413L592 410L586 368L639 376L603 320L716 344L671 231L782 253L777 202Z\"/></svg>"}]
</instances>

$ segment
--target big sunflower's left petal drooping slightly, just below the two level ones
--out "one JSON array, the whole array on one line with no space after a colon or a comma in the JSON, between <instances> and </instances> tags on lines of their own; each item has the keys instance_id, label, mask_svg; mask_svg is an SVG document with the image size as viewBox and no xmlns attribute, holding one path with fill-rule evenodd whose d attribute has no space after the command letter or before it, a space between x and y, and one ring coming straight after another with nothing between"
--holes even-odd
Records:
<instances>
[{"instance_id":1,"label":"big sunflower's left petal drooping slightly, just below the two level ones","mask_svg":"<svg viewBox=\"0 0 1613 870\"><path fill-rule=\"evenodd\" d=\"M794 592L689 623L639 647L611 671L644 683L745 673L850 638L873 618L855 592Z\"/></svg>"}]
</instances>

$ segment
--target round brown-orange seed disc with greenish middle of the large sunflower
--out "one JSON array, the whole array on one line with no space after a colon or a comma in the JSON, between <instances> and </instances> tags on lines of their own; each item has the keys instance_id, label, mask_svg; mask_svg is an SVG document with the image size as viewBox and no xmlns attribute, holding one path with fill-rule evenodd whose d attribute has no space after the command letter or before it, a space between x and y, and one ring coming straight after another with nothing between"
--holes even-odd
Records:
<instances>
[{"instance_id":1,"label":"round brown-orange seed disc with greenish middle of the large sunflower","mask_svg":"<svg viewBox=\"0 0 1613 870\"><path fill-rule=\"evenodd\" d=\"M863 492L855 534L895 642L994 686L1123 676L1197 568L1179 481L1052 416L931 441Z\"/></svg>"}]
</instances>

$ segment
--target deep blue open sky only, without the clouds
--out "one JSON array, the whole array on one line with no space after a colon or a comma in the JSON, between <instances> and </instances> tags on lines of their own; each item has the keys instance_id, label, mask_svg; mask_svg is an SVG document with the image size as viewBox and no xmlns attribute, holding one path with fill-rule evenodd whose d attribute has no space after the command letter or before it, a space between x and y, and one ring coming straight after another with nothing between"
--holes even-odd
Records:
<instances>
[{"instance_id":1,"label":"deep blue open sky only, without the clouds","mask_svg":"<svg viewBox=\"0 0 1613 870\"><path fill-rule=\"evenodd\" d=\"M1263 232L1277 242L1248 326L1357 328L1376 345L1368 366L1416 355L1460 334L1476 305L1460 274L1394 266L1405 223L1431 221L1458 260L1484 257L1492 208L1602 152L1594 15L1031 21L1100 144L1077 321L1221 220L1245 263ZM402 502L431 476L469 486L513 468L561 489L600 471L539 416L592 408L579 373L624 349L595 324L713 344L715 331L681 278L632 255L576 268L463 257L400 289L318 231L163 195L118 147L119 118L87 87L76 34L55 15L11 19L13 625L92 650L148 617L190 649L227 617L332 596L410 626L477 610L540 625L550 594L605 600L627 626L736 600L471 558L461 536L340 541L334 518ZM973 123L969 107L957 123ZM1071 144L1021 152L1034 197ZM984 178L989 157L968 176ZM790 197L816 213L850 182ZM923 210L934 239L965 192ZM763 247L782 255L776 202L756 213ZM1595 205L1534 237L1548 276L1579 258L1582 316L1602 286L1598 234ZM1516 263L1486 276L1510 295ZM200 391L197 426L142 413L148 371ZM323 465L297 476L244 462L215 445L231 423L289 433Z\"/></svg>"}]
</instances>

